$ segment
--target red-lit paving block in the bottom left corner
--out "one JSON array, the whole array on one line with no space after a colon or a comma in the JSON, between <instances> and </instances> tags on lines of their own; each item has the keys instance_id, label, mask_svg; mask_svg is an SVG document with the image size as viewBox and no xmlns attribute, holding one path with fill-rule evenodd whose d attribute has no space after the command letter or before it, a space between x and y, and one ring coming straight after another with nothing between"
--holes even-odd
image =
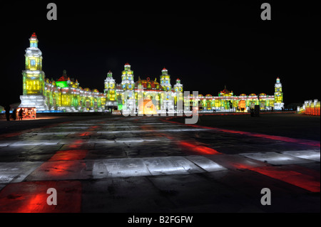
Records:
<instances>
[{"instance_id":1,"label":"red-lit paving block in the bottom left corner","mask_svg":"<svg viewBox=\"0 0 321 227\"><path fill-rule=\"evenodd\" d=\"M49 188L57 191L57 205L49 206ZM34 181L9 184L0 191L0 212L74 213L81 211L80 181Z\"/></svg>"}]
</instances>

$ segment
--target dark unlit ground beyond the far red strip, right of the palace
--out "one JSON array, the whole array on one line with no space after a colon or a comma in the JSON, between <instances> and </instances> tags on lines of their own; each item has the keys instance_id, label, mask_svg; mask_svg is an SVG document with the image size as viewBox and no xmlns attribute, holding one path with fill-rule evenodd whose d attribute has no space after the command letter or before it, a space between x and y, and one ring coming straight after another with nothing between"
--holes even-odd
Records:
<instances>
[{"instance_id":1,"label":"dark unlit ground beyond the far red strip, right of the palace","mask_svg":"<svg viewBox=\"0 0 321 227\"><path fill-rule=\"evenodd\" d=\"M185 122L185 119L180 117L175 121ZM320 141L320 116L291 112L261 112L259 117L250 117L249 114L200 115L197 125Z\"/></svg>"}]
</instances>

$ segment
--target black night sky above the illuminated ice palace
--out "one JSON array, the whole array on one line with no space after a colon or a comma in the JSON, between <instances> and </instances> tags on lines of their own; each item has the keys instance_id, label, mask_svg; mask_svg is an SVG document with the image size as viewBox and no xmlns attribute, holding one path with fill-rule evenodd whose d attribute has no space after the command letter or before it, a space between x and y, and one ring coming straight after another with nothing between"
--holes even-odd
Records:
<instances>
[{"instance_id":1,"label":"black night sky above the illuminated ice palace","mask_svg":"<svg viewBox=\"0 0 321 227\"><path fill-rule=\"evenodd\" d=\"M180 78L184 90L203 95L216 96L225 85L234 95L274 95L280 77L285 106L320 100L320 1L267 1L272 21L260 19L266 1L56 1L57 21L46 19L49 2L1 4L0 105L20 102L33 32L46 78L67 70L82 88L103 92L109 70L121 83L129 63L135 81L159 82L165 67L172 85Z\"/></svg>"}]
</instances>

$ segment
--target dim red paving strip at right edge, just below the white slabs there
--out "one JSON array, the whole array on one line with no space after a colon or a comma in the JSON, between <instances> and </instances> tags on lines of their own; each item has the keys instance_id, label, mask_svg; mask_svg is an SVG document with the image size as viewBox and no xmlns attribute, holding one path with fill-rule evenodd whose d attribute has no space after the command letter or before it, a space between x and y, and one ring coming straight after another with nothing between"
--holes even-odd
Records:
<instances>
[{"instance_id":1,"label":"dim red paving strip at right edge, just below the white slabs there","mask_svg":"<svg viewBox=\"0 0 321 227\"><path fill-rule=\"evenodd\" d=\"M281 167L282 168L282 167ZM265 176L270 176L274 179L285 181L289 184L293 184L302 189L306 189L312 192L320 192L320 173L317 171L309 170L312 173L302 174L297 171L291 171L287 169L281 169L278 167L258 167L250 169L256 171Z\"/></svg>"}]
</instances>

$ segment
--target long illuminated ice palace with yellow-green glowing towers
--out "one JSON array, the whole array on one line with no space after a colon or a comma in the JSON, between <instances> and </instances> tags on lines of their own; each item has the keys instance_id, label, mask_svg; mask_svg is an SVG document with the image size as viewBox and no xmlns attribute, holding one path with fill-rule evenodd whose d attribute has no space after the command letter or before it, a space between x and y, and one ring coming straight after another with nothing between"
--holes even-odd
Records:
<instances>
[{"instance_id":1,"label":"long illuminated ice palace with yellow-green glowing towers","mask_svg":"<svg viewBox=\"0 0 321 227\"><path fill-rule=\"evenodd\" d=\"M81 88L78 80L68 77L66 70L57 80L46 78L42 70L42 53L38 48L36 33L33 33L30 47L26 49L26 70L23 75L23 95L20 107L36 107L41 111L63 112L103 112L105 110L123 110L139 114L159 114L164 112L190 111L198 107L199 111L248 111L254 105L261 110L282 110L284 103L280 78L275 83L274 95L242 94L235 96L226 88L213 95L184 95L180 80L170 83L168 70L163 68L160 83L157 78L135 81L131 65L126 63L121 73L121 83L116 83L109 71L104 81L103 93L97 89ZM183 107L182 107L183 106Z\"/></svg>"}]
</instances>

